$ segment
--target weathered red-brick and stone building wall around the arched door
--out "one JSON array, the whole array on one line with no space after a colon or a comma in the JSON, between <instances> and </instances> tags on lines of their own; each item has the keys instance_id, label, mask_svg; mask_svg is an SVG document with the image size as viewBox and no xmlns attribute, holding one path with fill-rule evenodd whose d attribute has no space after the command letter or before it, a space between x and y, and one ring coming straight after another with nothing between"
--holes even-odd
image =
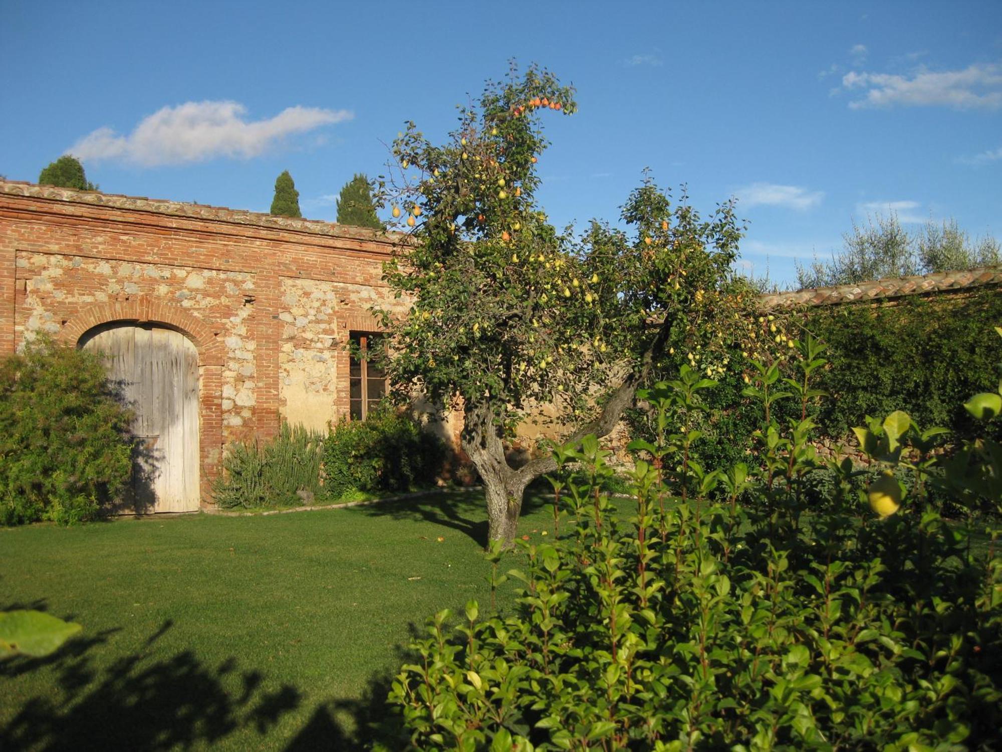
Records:
<instances>
[{"instance_id":1,"label":"weathered red-brick and stone building wall around the arched door","mask_svg":"<svg viewBox=\"0 0 1002 752\"><path fill-rule=\"evenodd\" d=\"M0 353L109 321L199 355L203 497L229 441L348 410L350 331L376 328L398 237L325 222L0 180Z\"/></svg>"}]
</instances>

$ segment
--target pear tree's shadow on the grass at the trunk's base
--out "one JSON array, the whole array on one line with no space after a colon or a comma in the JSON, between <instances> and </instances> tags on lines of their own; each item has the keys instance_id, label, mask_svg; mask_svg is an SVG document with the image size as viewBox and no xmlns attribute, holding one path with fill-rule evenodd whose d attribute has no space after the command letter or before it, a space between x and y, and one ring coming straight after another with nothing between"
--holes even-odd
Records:
<instances>
[{"instance_id":1,"label":"pear tree's shadow on the grass at the trunk's base","mask_svg":"<svg viewBox=\"0 0 1002 752\"><path fill-rule=\"evenodd\" d=\"M544 490L538 481L526 489L522 500L522 515L530 514L546 503ZM487 502L483 491L442 491L356 508L369 516L390 516L394 519L424 521L448 527L468 535L482 547L487 546Z\"/></svg>"}]
</instances>

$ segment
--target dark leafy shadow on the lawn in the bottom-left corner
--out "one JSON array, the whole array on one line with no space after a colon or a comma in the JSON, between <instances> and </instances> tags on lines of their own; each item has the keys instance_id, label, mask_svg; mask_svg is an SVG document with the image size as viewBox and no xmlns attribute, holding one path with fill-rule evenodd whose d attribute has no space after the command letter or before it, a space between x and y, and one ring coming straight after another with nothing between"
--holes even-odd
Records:
<instances>
[{"instance_id":1,"label":"dark leafy shadow on the lawn in the bottom-left corner","mask_svg":"<svg viewBox=\"0 0 1002 752\"><path fill-rule=\"evenodd\" d=\"M13 659L0 664L0 681L43 665L56 685L24 702L0 729L0 749L167 750L211 745L237 729L266 734L286 712L302 703L299 690L285 685L263 690L265 677L240 671L235 659L202 665L191 651L153 658L148 649L172 623L168 620L143 649L106 668L91 666L90 649L117 630L74 640L48 659Z\"/></svg>"}]
</instances>

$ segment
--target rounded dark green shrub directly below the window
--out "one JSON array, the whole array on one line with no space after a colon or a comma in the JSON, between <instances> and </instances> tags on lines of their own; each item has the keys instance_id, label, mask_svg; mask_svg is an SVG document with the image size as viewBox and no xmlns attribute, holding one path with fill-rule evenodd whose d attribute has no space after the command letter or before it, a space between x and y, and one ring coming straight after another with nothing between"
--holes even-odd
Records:
<instances>
[{"instance_id":1,"label":"rounded dark green shrub directly below the window","mask_svg":"<svg viewBox=\"0 0 1002 752\"><path fill-rule=\"evenodd\" d=\"M445 454L442 442L410 413L385 402L365 420L342 420L331 429L324 447L324 486L330 498L338 499L353 490L432 485Z\"/></svg>"}]
</instances>

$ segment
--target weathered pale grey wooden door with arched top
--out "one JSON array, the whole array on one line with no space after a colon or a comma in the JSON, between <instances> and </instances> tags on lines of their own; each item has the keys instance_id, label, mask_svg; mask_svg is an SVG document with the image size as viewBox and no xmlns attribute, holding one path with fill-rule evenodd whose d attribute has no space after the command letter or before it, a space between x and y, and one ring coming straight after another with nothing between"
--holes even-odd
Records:
<instances>
[{"instance_id":1,"label":"weathered pale grey wooden door with arched top","mask_svg":"<svg viewBox=\"0 0 1002 752\"><path fill-rule=\"evenodd\" d=\"M137 512L198 508L198 352L182 334L105 324L81 338L105 353L108 377L133 410L139 439L125 506Z\"/></svg>"}]
</instances>

